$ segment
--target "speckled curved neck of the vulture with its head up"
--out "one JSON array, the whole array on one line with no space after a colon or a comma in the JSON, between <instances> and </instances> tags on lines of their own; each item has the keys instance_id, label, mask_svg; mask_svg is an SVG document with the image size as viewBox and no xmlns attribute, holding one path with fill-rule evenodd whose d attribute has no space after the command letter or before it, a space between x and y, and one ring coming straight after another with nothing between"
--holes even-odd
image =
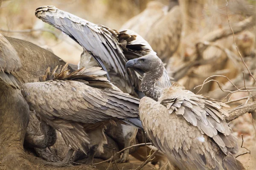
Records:
<instances>
[{"instance_id":1,"label":"speckled curved neck of the vulture with its head up","mask_svg":"<svg viewBox=\"0 0 256 170\"><path fill-rule=\"evenodd\" d=\"M155 68L144 74L141 82L141 88L145 96L158 100L163 93L163 88L157 86L157 81L163 76L164 66Z\"/></svg>"}]
</instances>

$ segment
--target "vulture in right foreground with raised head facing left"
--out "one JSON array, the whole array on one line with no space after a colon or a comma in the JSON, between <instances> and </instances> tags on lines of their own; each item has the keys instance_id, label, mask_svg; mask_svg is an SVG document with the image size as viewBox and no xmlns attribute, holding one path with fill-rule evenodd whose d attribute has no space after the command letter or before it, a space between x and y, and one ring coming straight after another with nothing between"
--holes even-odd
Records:
<instances>
[{"instance_id":1,"label":"vulture in right foreground with raised head facing left","mask_svg":"<svg viewBox=\"0 0 256 170\"><path fill-rule=\"evenodd\" d=\"M172 85L156 88L163 62L154 55L129 60L127 68L145 71L139 113L152 144L179 170L243 170L236 160L236 137L225 122L228 105Z\"/></svg>"}]
</instances>

